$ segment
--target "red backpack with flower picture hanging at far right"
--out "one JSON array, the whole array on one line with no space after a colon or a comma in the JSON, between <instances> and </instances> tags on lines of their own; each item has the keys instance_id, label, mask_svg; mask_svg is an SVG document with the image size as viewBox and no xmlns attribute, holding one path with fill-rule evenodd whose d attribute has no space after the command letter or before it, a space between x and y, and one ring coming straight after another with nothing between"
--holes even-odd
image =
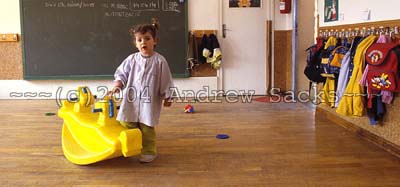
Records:
<instances>
[{"instance_id":1,"label":"red backpack with flower picture hanging at far right","mask_svg":"<svg viewBox=\"0 0 400 187\"><path fill-rule=\"evenodd\" d=\"M382 90L400 92L399 60L400 45L398 43L375 43L365 53L369 65L367 72L368 106L373 94Z\"/></svg>"}]
</instances>

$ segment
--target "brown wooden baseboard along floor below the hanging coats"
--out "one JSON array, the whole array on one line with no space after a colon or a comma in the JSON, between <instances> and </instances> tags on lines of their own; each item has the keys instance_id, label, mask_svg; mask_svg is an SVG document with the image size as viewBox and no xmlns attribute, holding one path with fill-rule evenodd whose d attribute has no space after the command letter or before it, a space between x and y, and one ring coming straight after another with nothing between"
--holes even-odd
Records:
<instances>
[{"instance_id":1,"label":"brown wooden baseboard along floor below the hanging coats","mask_svg":"<svg viewBox=\"0 0 400 187\"><path fill-rule=\"evenodd\" d=\"M328 118L330 121L334 122L335 124L340 125L340 126L344 127L345 129L347 129L348 131L359 135L361 138L377 145L378 147L388 151L389 153L391 153L397 157L400 157L400 146L398 146L376 134L373 134L351 122L348 122L348 121L344 120L343 118L340 118L321 107L316 108L315 117L318 117L318 116L325 116L326 118Z\"/></svg>"}]
</instances>

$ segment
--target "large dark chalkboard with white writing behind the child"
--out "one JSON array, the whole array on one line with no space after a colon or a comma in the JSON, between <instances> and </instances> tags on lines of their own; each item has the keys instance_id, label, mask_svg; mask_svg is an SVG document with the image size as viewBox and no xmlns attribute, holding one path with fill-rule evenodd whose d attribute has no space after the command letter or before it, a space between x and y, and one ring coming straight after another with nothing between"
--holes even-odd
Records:
<instances>
[{"instance_id":1,"label":"large dark chalkboard with white writing behind the child","mask_svg":"<svg viewBox=\"0 0 400 187\"><path fill-rule=\"evenodd\" d=\"M129 29L160 24L156 51L188 77L187 0L20 0L25 79L112 77L137 49Z\"/></svg>"}]
</instances>

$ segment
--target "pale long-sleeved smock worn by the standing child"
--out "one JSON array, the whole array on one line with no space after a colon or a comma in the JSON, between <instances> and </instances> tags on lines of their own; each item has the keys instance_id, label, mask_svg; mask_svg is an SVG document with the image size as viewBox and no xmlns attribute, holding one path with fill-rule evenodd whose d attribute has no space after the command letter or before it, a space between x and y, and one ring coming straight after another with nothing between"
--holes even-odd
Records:
<instances>
[{"instance_id":1,"label":"pale long-sleeved smock worn by the standing child","mask_svg":"<svg viewBox=\"0 0 400 187\"><path fill-rule=\"evenodd\" d=\"M157 52L150 57L140 52L131 54L117 68L114 77L123 84L117 120L156 126L162 101L171 97L174 86L166 59Z\"/></svg>"}]
</instances>

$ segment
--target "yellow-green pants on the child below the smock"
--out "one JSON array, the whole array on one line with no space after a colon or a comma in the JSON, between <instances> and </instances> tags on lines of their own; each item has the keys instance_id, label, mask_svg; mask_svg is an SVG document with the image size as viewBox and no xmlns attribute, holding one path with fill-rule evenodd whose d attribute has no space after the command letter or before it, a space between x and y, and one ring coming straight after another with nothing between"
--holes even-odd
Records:
<instances>
[{"instance_id":1,"label":"yellow-green pants on the child below the smock","mask_svg":"<svg viewBox=\"0 0 400 187\"><path fill-rule=\"evenodd\" d=\"M139 128L142 132L142 155L155 155L156 149L156 131L154 127L149 127L139 122L124 122L120 121L121 125L128 129Z\"/></svg>"}]
</instances>

